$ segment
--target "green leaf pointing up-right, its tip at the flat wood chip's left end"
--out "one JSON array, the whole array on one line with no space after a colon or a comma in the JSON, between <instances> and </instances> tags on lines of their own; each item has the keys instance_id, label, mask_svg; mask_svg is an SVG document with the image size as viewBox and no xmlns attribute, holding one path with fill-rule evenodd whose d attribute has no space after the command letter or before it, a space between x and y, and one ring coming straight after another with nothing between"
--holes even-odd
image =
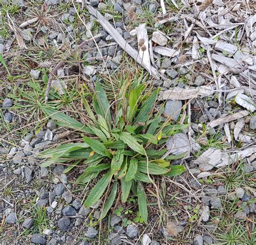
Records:
<instances>
[{"instance_id":1,"label":"green leaf pointing up-right, its tip at the flat wood chip's left end","mask_svg":"<svg viewBox=\"0 0 256 245\"><path fill-rule=\"evenodd\" d=\"M139 110L139 114L136 117L136 122L145 122L149 120L149 113L153 110L158 93L159 89L154 91L151 96L144 102L143 106Z\"/></svg>"}]
</instances>

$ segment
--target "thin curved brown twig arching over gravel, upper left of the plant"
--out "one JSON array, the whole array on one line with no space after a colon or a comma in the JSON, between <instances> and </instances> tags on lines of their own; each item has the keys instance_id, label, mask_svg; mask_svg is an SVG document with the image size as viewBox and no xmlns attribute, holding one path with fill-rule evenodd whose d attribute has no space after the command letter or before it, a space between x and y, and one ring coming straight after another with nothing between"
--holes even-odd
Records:
<instances>
[{"instance_id":1,"label":"thin curved brown twig arching over gravel, upper left of the plant","mask_svg":"<svg viewBox=\"0 0 256 245\"><path fill-rule=\"evenodd\" d=\"M85 40L83 43L79 44L77 47L75 47L75 49L72 49L71 52L66 55L63 59L67 59L69 57L69 55L71 55L71 53L75 52L75 51L79 51L80 49L83 48L83 46L85 46L87 43L91 42L93 39L98 38L98 37L102 37L103 34L98 34L95 37L92 37L88 40ZM51 72L49 79L48 79L48 84L46 87L46 91L45 91L45 103L47 103L48 98L49 98L49 93L50 93L50 89L51 89L51 83L52 83L52 79L54 76L56 76L56 73L58 71L58 69L60 67L62 67L64 65L64 61L62 60L61 62L59 62L56 66L55 69L53 69L53 71Z\"/></svg>"}]
</instances>

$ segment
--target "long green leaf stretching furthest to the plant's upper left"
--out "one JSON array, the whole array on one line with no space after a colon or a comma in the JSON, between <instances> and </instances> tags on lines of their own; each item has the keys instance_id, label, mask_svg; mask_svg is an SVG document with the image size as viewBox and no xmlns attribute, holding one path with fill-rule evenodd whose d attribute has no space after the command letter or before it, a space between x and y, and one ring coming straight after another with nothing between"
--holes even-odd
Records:
<instances>
[{"instance_id":1,"label":"long green leaf stretching furthest to the plant's upper left","mask_svg":"<svg viewBox=\"0 0 256 245\"><path fill-rule=\"evenodd\" d=\"M86 127L81 124L81 122L69 117L68 115L65 115L62 112L55 111L51 108L47 108L45 106L39 105L41 107L41 110L50 115L50 117L53 120L62 122L66 127L73 128L74 130L78 130L80 132L89 133Z\"/></svg>"}]
</instances>

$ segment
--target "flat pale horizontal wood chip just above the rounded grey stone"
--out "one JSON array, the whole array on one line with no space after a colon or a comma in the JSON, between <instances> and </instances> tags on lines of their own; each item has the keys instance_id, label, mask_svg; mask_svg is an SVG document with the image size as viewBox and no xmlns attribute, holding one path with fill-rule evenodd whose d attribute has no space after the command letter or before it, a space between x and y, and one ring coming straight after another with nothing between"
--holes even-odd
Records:
<instances>
[{"instance_id":1,"label":"flat pale horizontal wood chip just above the rounded grey stone","mask_svg":"<svg viewBox=\"0 0 256 245\"><path fill-rule=\"evenodd\" d=\"M179 87L174 87L173 89L161 91L159 93L159 100L185 100L197 97L211 96L213 91L205 86L198 87L198 89L180 89Z\"/></svg>"}]
</instances>

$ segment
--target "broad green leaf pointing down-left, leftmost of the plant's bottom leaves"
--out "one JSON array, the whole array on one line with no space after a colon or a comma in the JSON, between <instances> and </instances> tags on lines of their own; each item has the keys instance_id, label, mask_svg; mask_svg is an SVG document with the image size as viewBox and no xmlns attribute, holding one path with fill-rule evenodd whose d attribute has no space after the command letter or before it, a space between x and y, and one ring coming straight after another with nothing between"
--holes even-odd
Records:
<instances>
[{"instance_id":1,"label":"broad green leaf pointing down-left, leftmost of the plant's bottom leaves","mask_svg":"<svg viewBox=\"0 0 256 245\"><path fill-rule=\"evenodd\" d=\"M100 197L105 192L107 186L109 185L111 178L112 173L111 171L109 171L97 182L97 184L95 185L95 187L92 188L89 196L84 202L86 208L90 208L100 199Z\"/></svg>"}]
</instances>

